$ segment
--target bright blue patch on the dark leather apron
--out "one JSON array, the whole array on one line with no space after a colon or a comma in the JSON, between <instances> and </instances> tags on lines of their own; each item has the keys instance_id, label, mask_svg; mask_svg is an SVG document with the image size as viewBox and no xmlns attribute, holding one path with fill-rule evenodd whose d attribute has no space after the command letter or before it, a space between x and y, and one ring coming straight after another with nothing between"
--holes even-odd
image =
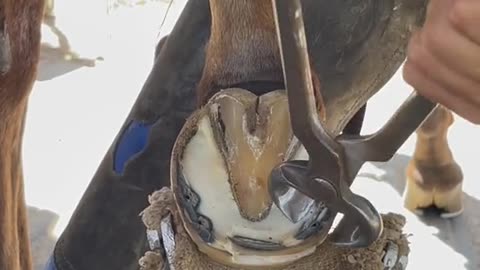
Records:
<instances>
[{"instance_id":1,"label":"bright blue patch on the dark leather apron","mask_svg":"<svg viewBox=\"0 0 480 270\"><path fill-rule=\"evenodd\" d=\"M113 169L117 174L121 174L125 164L133 156L142 152L148 142L151 125L132 121L123 132L115 149Z\"/></svg>"}]
</instances>

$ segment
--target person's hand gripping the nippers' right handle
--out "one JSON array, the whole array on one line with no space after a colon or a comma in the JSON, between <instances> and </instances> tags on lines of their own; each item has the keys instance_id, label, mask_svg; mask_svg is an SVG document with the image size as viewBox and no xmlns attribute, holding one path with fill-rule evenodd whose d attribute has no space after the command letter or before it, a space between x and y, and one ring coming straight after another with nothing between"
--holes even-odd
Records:
<instances>
[{"instance_id":1,"label":"person's hand gripping the nippers' right handle","mask_svg":"<svg viewBox=\"0 0 480 270\"><path fill-rule=\"evenodd\" d=\"M480 0L431 0L403 77L421 95L480 124Z\"/></svg>"}]
</instances>

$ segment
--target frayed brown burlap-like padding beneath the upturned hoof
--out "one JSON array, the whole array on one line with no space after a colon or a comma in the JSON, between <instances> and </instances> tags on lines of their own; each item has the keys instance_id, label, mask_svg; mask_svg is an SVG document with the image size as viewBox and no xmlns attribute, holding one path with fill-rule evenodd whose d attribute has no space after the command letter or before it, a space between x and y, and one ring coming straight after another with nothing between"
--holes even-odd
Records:
<instances>
[{"instance_id":1,"label":"frayed brown burlap-like padding beneath the upturned hoof","mask_svg":"<svg viewBox=\"0 0 480 270\"><path fill-rule=\"evenodd\" d=\"M142 270L160 270L165 263L172 264L172 269L190 270L239 270L230 266L219 265L205 254L199 252L188 234L183 229L176 209L171 206L170 190L162 189L154 193L150 198L152 203L143 212L143 221L148 229L158 230L158 221L165 217L168 211L173 216L175 224L175 249L168 262L163 250L160 252L149 251L140 260ZM157 198L152 200L152 198ZM162 201L162 199L165 199ZM166 208L168 210L166 211ZM174 211L172 211L174 210ZM406 268L408 254L407 236L402 229L405 218L401 215L389 213L382 215L384 230L381 237L368 248L349 249L334 246L328 239L321 244L310 256L304 257L294 263L278 267L281 270L402 270ZM153 226L152 226L153 225ZM387 263L390 260L390 263ZM265 268L267 269L267 268ZM273 269L273 268L268 268Z\"/></svg>"}]
</instances>

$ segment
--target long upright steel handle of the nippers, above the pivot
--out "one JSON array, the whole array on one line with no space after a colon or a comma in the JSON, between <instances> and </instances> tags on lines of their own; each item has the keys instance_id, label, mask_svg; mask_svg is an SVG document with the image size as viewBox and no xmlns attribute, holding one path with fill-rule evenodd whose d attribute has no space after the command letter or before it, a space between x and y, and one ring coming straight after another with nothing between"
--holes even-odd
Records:
<instances>
[{"instance_id":1,"label":"long upright steel handle of the nippers, above the pivot","mask_svg":"<svg viewBox=\"0 0 480 270\"><path fill-rule=\"evenodd\" d=\"M322 128L314 98L307 40L299 0L272 0L287 89L290 122L310 156L325 150L340 154L340 145Z\"/></svg>"}]
</instances>

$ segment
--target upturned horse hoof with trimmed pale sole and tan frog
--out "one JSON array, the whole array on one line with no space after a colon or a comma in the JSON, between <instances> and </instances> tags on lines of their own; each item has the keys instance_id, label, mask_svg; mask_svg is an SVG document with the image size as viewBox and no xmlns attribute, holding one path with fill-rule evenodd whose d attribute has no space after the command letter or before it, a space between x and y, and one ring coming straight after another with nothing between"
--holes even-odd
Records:
<instances>
[{"instance_id":1,"label":"upturned horse hoof with trimmed pale sole and tan frog","mask_svg":"<svg viewBox=\"0 0 480 270\"><path fill-rule=\"evenodd\" d=\"M177 137L170 175L179 216L198 249L220 264L288 265L328 235L335 216L323 204L311 200L292 221L270 195L275 166L308 160L288 119L285 91L257 96L231 88L192 114Z\"/></svg>"}]
</instances>

